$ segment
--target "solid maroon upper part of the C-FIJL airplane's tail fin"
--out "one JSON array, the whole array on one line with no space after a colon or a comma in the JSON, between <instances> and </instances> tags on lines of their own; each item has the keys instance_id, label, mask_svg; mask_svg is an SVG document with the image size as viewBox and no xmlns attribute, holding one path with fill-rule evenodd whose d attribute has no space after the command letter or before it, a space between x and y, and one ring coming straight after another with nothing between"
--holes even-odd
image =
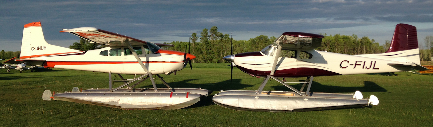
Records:
<instances>
[{"instance_id":1,"label":"solid maroon upper part of the C-FIJL airplane's tail fin","mask_svg":"<svg viewBox=\"0 0 433 127\"><path fill-rule=\"evenodd\" d=\"M391 46L386 52L405 51L418 48L417 27L407 24L397 24Z\"/></svg>"}]
</instances>

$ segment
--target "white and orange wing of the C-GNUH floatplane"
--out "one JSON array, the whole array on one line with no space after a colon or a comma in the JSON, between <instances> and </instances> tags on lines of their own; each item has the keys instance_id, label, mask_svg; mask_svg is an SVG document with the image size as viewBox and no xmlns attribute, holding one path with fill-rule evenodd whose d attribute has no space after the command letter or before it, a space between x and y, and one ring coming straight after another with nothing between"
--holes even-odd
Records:
<instances>
[{"instance_id":1,"label":"white and orange wing of the C-GNUH floatplane","mask_svg":"<svg viewBox=\"0 0 433 127\"><path fill-rule=\"evenodd\" d=\"M113 32L108 32L102 29L97 29L94 27L80 27L74 29L63 29L60 32L69 32L71 34L77 35L80 38L84 38L90 43L105 45L105 46L126 46L124 41L128 40L129 43L134 45L147 44L147 41L142 41L136 38L131 38L125 35L120 35ZM159 44L155 43L160 47L174 47L172 44Z\"/></svg>"}]
</instances>

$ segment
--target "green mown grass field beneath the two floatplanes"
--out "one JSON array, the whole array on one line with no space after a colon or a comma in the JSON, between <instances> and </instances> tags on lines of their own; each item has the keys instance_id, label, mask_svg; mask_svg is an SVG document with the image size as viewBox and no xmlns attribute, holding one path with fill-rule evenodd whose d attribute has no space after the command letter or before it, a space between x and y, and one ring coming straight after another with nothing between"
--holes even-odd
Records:
<instances>
[{"instance_id":1,"label":"green mown grass field beneath the two floatplanes","mask_svg":"<svg viewBox=\"0 0 433 127\"><path fill-rule=\"evenodd\" d=\"M45 89L56 92L108 88L108 74L53 69L19 73L0 70L0 127L433 127L433 76L397 73L398 76L347 75L315 77L312 92L376 95L380 103L364 108L307 112L235 111L212 102L220 90L256 90L262 79L234 68L230 84L228 63L194 63L177 75L163 76L174 88L214 92L195 105L178 110L120 110L64 101L43 101ZM126 76L126 75L125 75ZM133 76L126 76L132 78ZM304 79L304 78L300 78ZM157 80L158 87L164 87ZM120 84L116 84L120 85ZM300 84L294 84L299 89ZM151 87L150 81L137 87ZM264 90L285 90L270 80Z\"/></svg>"}]
</instances>

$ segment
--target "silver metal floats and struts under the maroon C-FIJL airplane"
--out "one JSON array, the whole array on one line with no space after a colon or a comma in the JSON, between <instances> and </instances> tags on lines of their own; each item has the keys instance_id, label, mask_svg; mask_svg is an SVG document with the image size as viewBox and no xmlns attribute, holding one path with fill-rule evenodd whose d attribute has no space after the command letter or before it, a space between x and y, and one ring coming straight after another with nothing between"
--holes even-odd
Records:
<instances>
[{"instance_id":1,"label":"silver metal floats and struts under the maroon C-FIJL airplane","mask_svg":"<svg viewBox=\"0 0 433 127\"><path fill-rule=\"evenodd\" d=\"M292 89L293 92L262 91L269 77ZM299 112L315 111L334 108L349 108L378 105L379 100L374 95L363 98L361 92L352 94L309 92L313 77L307 78L308 88L306 92L297 91L281 80L268 76L262 86L256 91L228 90L214 95L215 104L234 110L245 111L272 111L272 112ZM308 81L309 80L309 81ZM305 85L304 85L305 86Z\"/></svg>"}]
</instances>

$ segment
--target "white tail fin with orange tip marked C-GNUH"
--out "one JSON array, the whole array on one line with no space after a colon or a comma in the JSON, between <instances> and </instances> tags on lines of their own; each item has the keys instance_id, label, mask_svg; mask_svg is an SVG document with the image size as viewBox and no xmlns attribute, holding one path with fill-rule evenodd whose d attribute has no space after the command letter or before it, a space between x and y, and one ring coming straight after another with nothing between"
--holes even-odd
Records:
<instances>
[{"instance_id":1,"label":"white tail fin with orange tip marked C-GNUH","mask_svg":"<svg viewBox=\"0 0 433 127\"><path fill-rule=\"evenodd\" d=\"M23 42L21 43L21 59L72 52L79 51L48 44L45 41L40 21L24 25Z\"/></svg>"}]
</instances>

